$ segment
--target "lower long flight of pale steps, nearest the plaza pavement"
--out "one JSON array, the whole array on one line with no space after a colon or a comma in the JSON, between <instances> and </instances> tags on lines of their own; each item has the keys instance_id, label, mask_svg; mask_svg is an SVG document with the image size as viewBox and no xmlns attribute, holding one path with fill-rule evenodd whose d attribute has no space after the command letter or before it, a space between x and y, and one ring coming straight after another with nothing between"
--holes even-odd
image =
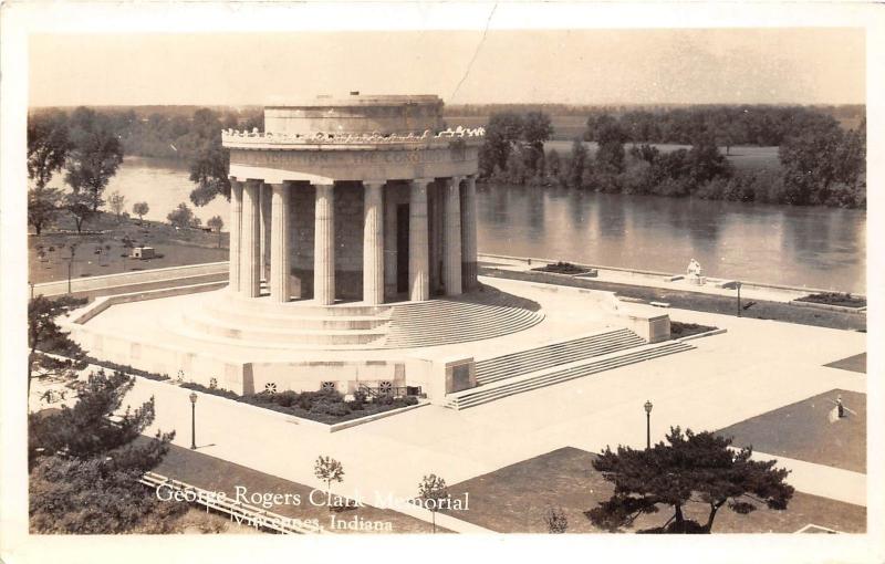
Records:
<instances>
[{"instance_id":1,"label":"lower long flight of pale steps, nearest the plaza pavement","mask_svg":"<svg viewBox=\"0 0 885 564\"><path fill-rule=\"evenodd\" d=\"M486 386L467 389L451 394L446 401L446 407L452 409L467 409L488 404L523 391L553 386L575 378L582 378L621 366L642 363L662 356L690 351L694 346L681 341L668 341L654 345L646 345L628 351L618 351L607 355L584 359L562 366L523 374L512 378L494 382Z\"/></svg>"}]
</instances>

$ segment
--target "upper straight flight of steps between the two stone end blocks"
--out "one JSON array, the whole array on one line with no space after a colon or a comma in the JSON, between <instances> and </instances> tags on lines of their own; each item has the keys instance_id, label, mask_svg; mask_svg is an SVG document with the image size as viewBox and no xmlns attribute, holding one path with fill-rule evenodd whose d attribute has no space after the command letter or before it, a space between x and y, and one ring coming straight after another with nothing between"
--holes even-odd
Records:
<instances>
[{"instance_id":1,"label":"upper straight flight of steps between the two stone end blocks","mask_svg":"<svg viewBox=\"0 0 885 564\"><path fill-rule=\"evenodd\" d=\"M519 351L477 362L477 384L486 385L530 372L583 361L645 344L627 328L606 331L571 341Z\"/></svg>"}]
</instances>

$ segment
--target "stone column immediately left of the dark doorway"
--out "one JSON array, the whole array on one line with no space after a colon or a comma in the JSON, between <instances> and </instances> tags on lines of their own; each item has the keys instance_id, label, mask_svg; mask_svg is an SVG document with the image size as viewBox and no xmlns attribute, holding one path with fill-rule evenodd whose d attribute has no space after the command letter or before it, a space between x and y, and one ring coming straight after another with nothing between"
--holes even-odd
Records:
<instances>
[{"instance_id":1,"label":"stone column immediately left of the dark doorway","mask_svg":"<svg viewBox=\"0 0 885 564\"><path fill-rule=\"evenodd\" d=\"M363 301L384 303L384 182L363 182Z\"/></svg>"}]
</instances>

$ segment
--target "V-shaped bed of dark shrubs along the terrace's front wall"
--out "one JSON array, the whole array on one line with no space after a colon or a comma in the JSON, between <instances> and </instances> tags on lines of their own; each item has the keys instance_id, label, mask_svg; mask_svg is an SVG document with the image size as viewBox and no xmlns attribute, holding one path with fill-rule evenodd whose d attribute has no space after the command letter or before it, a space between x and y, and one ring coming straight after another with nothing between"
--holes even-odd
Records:
<instances>
[{"instance_id":1,"label":"V-shaped bed of dark shrubs along the terrace's front wall","mask_svg":"<svg viewBox=\"0 0 885 564\"><path fill-rule=\"evenodd\" d=\"M354 394L353 399L344 399L344 396L336 390L261 391L239 396L229 389L206 387L195 383L185 383L181 387L326 425L361 419L418 404L418 398L414 396L379 395L369 398L361 391Z\"/></svg>"}]
</instances>

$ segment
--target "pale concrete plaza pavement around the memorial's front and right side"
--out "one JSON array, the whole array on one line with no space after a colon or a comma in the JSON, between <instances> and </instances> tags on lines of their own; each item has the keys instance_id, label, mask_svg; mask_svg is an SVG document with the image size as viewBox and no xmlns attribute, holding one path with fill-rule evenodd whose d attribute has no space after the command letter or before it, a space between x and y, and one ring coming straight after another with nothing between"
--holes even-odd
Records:
<instances>
[{"instance_id":1,"label":"pale concrete plaza pavement around the memorial's front and right side","mask_svg":"<svg viewBox=\"0 0 885 564\"><path fill-rule=\"evenodd\" d=\"M521 295L543 300L530 284L521 284ZM580 299L574 294L566 301L571 310L580 310ZM352 495L358 490L372 504L375 492L415 497L421 477L430 472L457 483L565 446L594 452L606 445L641 447L646 399L654 404L652 439L657 441L671 425L720 429L834 388L866 390L865 375L823 366L864 352L863 333L680 310L670 311L670 316L728 332L693 341L694 351L471 409L427 406L335 434L201 395L197 443L206 455L313 487L321 485L313 477L313 461L332 456L346 472L336 491ZM155 396L156 420L148 431L175 429L175 442L189 446L189 393L139 378L127 400L136 404ZM785 459L783 463L793 470L790 481L800 491L852 503L865 500L864 474L846 481L847 474L836 469ZM464 531L457 523L440 524Z\"/></svg>"}]
</instances>

